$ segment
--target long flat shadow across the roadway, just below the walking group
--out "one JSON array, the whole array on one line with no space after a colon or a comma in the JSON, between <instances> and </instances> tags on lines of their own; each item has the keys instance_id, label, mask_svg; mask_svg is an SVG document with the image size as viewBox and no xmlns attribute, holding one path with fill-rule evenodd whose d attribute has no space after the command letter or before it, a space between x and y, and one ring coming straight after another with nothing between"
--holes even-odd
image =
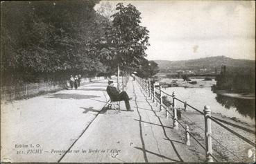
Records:
<instances>
[{"instance_id":1,"label":"long flat shadow across the roadway, just below the walking group","mask_svg":"<svg viewBox=\"0 0 256 164\"><path fill-rule=\"evenodd\" d=\"M99 98L100 96L97 95L81 95L77 93L57 93L53 95L49 95L48 98L60 98L60 99L89 99L89 98Z\"/></svg>"}]
</instances>

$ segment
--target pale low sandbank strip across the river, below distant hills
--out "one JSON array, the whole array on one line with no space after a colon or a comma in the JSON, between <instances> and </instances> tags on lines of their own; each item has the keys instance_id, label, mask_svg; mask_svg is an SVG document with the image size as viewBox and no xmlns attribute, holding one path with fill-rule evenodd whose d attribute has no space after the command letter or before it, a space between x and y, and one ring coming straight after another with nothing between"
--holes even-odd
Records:
<instances>
[{"instance_id":1,"label":"pale low sandbank strip across the river, below distant hills","mask_svg":"<svg viewBox=\"0 0 256 164\"><path fill-rule=\"evenodd\" d=\"M195 81L196 84L190 84L187 81L184 81L183 79L171 79L171 78L161 78L158 82L160 84L167 84L172 85L175 87L187 87L187 88L203 88L203 87L211 87L212 85L216 84L215 80L205 80L205 79L191 79L191 81Z\"/></svg>"}]
</instances>

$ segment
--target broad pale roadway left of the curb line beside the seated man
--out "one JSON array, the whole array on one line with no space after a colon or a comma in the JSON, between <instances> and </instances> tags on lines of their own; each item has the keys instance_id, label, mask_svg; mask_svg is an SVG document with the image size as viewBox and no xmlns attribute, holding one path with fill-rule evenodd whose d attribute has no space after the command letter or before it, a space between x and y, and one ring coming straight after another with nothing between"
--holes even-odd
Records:
<instances>
[{"instance_id":1,"label":"broad pale roadway left of the curb line beside the seated man","mask_svg":"<svg viewBox=\"0 0 256 164\"><path fill-rule=\"evenodd\" d=\"M78 90L1 104L1 161L58 161L61 153L51 150L67 150L83 133L107 103L107 85L108 80L101 80ZM42 149L42 153L28 149Z\"/></svg>"}]
</instances>

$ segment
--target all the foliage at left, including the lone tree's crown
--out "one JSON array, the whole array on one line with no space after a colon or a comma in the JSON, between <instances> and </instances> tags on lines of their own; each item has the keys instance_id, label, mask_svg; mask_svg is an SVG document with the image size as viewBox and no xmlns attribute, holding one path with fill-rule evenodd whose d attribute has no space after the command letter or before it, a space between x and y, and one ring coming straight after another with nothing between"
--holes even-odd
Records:
<instances>
[{"instance_id":1,"label":"all the foliage at left, including the lone tree's crown","mask_svg":"<svg viewBox=\"0 0 256 164\"><path fill-rule=\"evenodd\" d=\"M109 18L110 12L96 13L98 2L2 2L1 82L110 74L117 64L138 68L149 46L149 32L139 25L140 12L118 3L115 13L108 9L114 13Z\"/></svg>"}]
</instances>

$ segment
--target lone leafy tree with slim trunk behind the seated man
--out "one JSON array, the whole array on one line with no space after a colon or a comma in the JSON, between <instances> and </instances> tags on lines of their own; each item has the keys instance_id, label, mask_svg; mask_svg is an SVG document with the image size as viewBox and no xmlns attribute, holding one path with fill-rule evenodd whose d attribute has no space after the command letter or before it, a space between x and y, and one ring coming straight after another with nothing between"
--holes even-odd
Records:
<instances>
[{"instance_id":1,"label":"lone leafy tree with slim trunk behind the seated man","mask_svg":"<svg viewBox=\"0 0 256 164\"><path fill-rule=\"evenodd\" d=\"M139 25L141 13L135 6L128 4L125 7L123 3L118 3L116 10L117 12L111 16L112 24L107 26L105 37L98 46L101 46L101 60L108 62L112 68L117 67L119 80L119 67L122 70L138 67L146 57L145 51L150 44L149 31Z\"/></svg>"}]
</instances>

